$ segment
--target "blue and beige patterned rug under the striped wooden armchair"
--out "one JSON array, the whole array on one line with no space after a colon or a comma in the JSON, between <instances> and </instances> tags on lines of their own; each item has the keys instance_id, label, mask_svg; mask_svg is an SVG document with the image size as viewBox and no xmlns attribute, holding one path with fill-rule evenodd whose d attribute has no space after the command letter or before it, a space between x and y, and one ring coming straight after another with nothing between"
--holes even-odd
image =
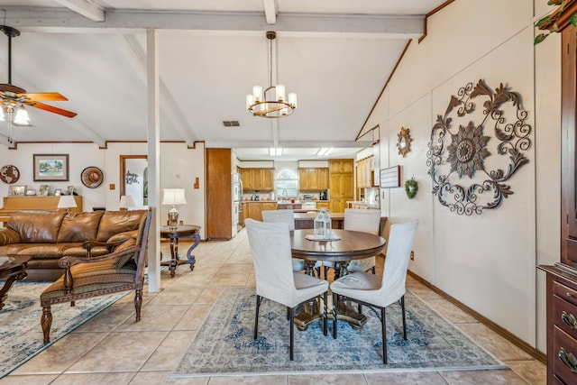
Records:
<instances>
[{"instance_id":1,"label":"blue and beige patterned rug under the striped wooden armchair","mask_svg":"<svg viewBox=\"0 0 577 385\"><path fill-rule=\"evenodd\" d=\"M0 283L0 285L3 285ZM50 328L50 343L43 344L40 318L41 292L50 286L47 281L17 281L8 291L5 307L0 310L0 378L4 377L18 366L41 353L64 335L69 334L79 325L84 324L114 304L118 299L130 294L130 291L110 296L82 299L75 307L69 304L54 305L52 311L52 327Z\"/></svg>"}]
</instances>

